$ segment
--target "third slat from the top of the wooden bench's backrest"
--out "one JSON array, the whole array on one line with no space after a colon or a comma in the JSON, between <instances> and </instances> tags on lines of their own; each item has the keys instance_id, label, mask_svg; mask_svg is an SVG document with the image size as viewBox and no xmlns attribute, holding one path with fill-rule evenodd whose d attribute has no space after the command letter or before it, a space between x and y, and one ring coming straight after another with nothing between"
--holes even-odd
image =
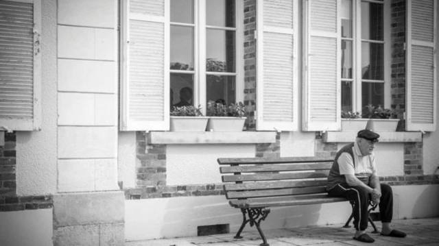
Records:
<instances>
[{"instance_id":1,"label":"third slat from the top of the wooden bench's backrest","mask_svg":"<svg viewBox=\"0 0 439 246\"><path fill-rule=\"evenodd\" d=\"M222 182L263 181L263 180L295 180L328 177L328 172L307 173L257 173L244 175L222 175Z\"/></svg>"}]
</instances>

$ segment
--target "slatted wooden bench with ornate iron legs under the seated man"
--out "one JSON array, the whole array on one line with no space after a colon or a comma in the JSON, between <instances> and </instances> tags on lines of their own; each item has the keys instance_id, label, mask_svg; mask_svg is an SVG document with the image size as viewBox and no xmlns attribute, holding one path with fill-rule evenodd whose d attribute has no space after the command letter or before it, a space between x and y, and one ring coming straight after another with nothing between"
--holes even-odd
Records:
<instances>
[{"instance_id":1,"label":"slatted wooden bench with ornate iron legs under the seated man","mask_svg":"<svg viewBox=\"0 0 439 246\"><path fill-rule=\"evenodd\" d=\"M333 158L218 158L224 192L233 208L241 209L244 220L235 238L240 236L247 223L256 225L268 246L260 223L271 207L326 204L348 201L341 197L328 197L325 186ZM375 210L376 205L370 204ZM351 202L353 208L353 202ZM353 214L344 227L349 227ZM375 233L377 227L369 217Z\"/></svg>"}]
</instances>

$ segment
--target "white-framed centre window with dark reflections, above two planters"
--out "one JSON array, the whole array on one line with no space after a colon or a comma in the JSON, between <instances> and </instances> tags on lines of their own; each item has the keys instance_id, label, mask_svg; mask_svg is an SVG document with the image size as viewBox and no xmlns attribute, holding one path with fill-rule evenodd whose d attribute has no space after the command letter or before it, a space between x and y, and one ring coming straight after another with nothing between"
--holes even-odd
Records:
<instances>
[{"instance_id":1,"label":"white-framed centre window with dark reflections, above two planters","mask_svg":"<svg viewBox=\"0 0 439 246\"><path fill-rule=\"evenodd\" d=\"M229 104L242 97L241 12L233 0L170 1L171 107L205 110L209 100Z\"/></svg>"}]
</instances>

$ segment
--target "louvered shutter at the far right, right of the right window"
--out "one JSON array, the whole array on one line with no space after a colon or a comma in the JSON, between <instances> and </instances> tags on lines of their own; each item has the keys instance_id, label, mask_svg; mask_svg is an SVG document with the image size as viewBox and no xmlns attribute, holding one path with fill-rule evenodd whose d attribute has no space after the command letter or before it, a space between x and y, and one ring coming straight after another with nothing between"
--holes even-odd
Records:
<instances>
[{"instance_id":1,"label":"louvered shutter at the far right, right of the right window","mask_svg":"<svg viewBox=\"0 0 439 246\"><path fill-rule=\"evenodd\" d=\"M407 1L408 131L436 130L436 1Z\"/></svg>"}]
</instances>

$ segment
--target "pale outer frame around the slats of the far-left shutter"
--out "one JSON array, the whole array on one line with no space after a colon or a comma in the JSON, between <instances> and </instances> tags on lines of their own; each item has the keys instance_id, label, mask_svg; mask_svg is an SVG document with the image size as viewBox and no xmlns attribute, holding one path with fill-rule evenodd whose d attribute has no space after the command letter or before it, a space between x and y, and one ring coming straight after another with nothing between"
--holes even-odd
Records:
<instances>
[{"instance_id":1,"label":"pale outer frame around the slats of the far-left shutter","mask_svg":"<svg viewBox=\"0 0 439 246\"><path fill-rule=\"evenodd\" d=\"M41 130L41 0L6 0L34 5L34 75L33 75L33 117L21 119L10 117L0 119L0 131L39 131Z\"/></svg>"}]
</instances>

